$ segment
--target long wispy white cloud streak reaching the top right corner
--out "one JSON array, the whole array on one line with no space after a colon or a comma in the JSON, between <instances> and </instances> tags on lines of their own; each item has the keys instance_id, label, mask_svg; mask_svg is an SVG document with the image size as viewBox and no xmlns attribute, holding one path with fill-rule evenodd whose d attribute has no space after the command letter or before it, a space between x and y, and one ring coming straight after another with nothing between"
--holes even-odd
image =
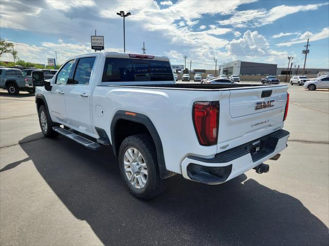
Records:
<instances>
[{"instance_id":1,"label":"long wispy white cloud streak reaching the top right corner","mask_svg":"<svg viewBox=\"0 0 329 246\"><path fill-rule=\"evenodd\" d=\"M280 5L273 7L270 10L266 9L253 9L244 11L234 11L233 16L229 19L218 20L221 25L232 25L235 27L260 27L275 22L289 14L294 14L300 11L317 10L318 8L328 5L329 3L322 4L308 4L298 6Z\"/></svg>"}]
</instances>

